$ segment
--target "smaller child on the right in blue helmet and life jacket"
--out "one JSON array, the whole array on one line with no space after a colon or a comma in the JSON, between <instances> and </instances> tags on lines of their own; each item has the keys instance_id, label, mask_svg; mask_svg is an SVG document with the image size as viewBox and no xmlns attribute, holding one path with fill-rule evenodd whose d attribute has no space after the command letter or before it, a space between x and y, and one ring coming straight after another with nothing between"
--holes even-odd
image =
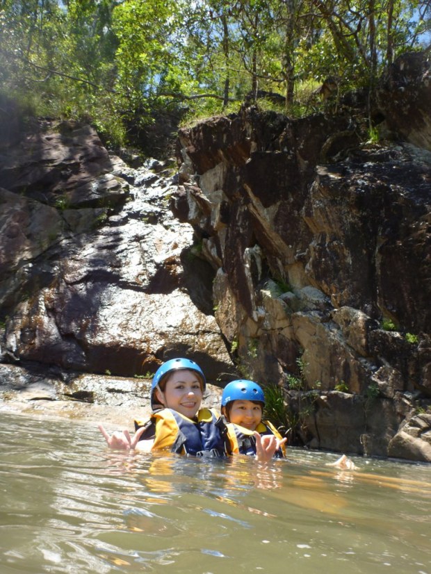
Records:
<instances>
[{"instance_id":1,"label":"smaller child on the right in blue helmet and life jacket","mask_svg":"<svg viewBox=\"0 0 431 574\"><path fill-rule=\"evenodd\" d=\"M222 414L234 429L234 435L229 436L234 443L233 452L256 454L259 449L256 440L259 434L261 441L266 443L268 448L271 445L275 457L284 457L286 438L282 438L269 421L262 420L263 407L265 395L257 383L241 379L225 386L222 394Z\"/></svg>"}]
</instances>

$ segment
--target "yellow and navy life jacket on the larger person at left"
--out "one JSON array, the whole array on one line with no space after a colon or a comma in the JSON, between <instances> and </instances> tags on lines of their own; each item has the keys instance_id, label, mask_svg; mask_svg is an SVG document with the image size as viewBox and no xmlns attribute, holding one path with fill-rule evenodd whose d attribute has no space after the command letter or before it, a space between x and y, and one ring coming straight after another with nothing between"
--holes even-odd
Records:
<instances>
[{"instance_id":1,"label":"yellow and navy life jacket on the larger person at left","mask_svg":"<svg viewBox=\"0 0 431 574\"><path fill-rule=\"evenodd\" d=\"M143 427L135 421L135 429ZM173 409L154 411L140 440L154 438L152 450L170 450L194 457L223 457L231 454L227 425L218 413L200 409L191 420Z\"/></svg>"}]
</instances>

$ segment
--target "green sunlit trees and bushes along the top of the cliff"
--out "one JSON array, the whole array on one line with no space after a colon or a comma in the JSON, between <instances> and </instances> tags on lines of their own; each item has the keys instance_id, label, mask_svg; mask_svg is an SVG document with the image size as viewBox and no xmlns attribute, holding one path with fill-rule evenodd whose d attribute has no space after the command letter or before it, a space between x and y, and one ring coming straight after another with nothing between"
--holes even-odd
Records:
<instances>
[{"instance_id":1,"label":"green sunlit trees and bushes along the top of the cliff","mask_svg":"<svg viewBox=\"0 0 431 574\"><path fill-rule=\"evenodd\" d=\"M302 114L328 76L341 91L373 89L398 54L421 47L430 4L3 0L0 90L28 113L92 122L111 146L157 113L190 122L237 110L257 90Z\"/></svg>"}]
</instances>

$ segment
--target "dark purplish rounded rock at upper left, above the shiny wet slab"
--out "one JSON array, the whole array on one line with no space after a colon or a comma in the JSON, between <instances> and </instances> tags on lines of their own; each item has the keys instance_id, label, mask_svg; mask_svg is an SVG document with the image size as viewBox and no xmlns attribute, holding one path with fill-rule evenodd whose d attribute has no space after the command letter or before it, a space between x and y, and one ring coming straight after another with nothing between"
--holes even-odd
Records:
<instances>
[{"instance_id":1,"label":"dark purplish rounded rock at upper left, above the shiny wet slab","mask_svg":"<svg viewBox=\"0 0 431 574\"><path fill-rule=\"evenodd\" d=\"M63 122L24 132L0 165L4 188L60 208L124 202L127 184L111 173L108 152L94 129Z\"/></svg>"}]
</instances>

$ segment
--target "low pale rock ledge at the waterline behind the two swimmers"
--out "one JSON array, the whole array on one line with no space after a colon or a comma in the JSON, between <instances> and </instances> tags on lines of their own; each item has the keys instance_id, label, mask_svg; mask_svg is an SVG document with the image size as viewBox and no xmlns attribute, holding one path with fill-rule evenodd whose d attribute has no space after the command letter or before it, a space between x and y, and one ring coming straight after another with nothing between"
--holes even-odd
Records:
<instances>
[{"instance_id":1,"label":"low pale rock ledge at the waterline behind the two swimmers","mask_svg":"<svg viewBox=\"0 0 431 574\"><path fill-rule=\"evenodd\" d=\"M151 413L151 379L92 375L40 363L0 363L0 411L73 418L92 425L133 429L133 419ZM202 404L220 408L221 389L209 384ZM101 438L103 441L103 438Z\"/></svg>"}]
</instances>

